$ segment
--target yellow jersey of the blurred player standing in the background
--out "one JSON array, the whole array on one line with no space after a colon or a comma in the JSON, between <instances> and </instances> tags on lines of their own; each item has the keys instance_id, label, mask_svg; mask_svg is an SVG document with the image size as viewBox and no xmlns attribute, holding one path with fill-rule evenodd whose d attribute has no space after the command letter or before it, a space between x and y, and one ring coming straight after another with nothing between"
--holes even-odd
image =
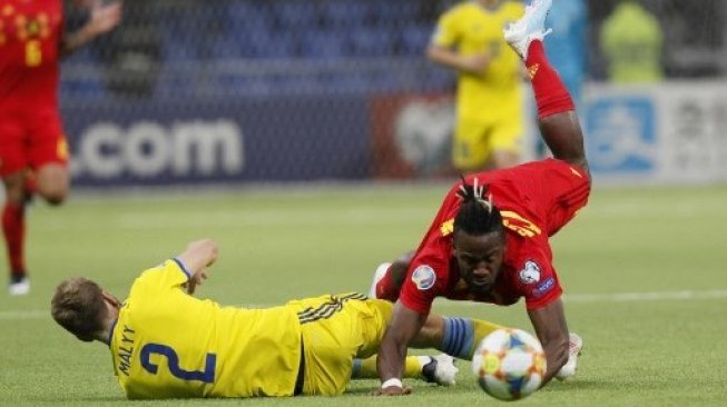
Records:
<instances>
[{"instance_id":1,"label":"yellow jersey of the blurred player standing in the background","mask_svg":"<svg viewBox=\"0 0 727 407\"><path fill-rule=\"evenodd\" d=\"M485 53L490 58L480 75L460 73L456 97L460 118L489 121L493 111L520 111L521 61L505 42L502 29L523 12L523 6L515 1L503 1L490 10L471 0L440 17L432 44L455 49L462 56Z\"/></svg>"}]
</instances>

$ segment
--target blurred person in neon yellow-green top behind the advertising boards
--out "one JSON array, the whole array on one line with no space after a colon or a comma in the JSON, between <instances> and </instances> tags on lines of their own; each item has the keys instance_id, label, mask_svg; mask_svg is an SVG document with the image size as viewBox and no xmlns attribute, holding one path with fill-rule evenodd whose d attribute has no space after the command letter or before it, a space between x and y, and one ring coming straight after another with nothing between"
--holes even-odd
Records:
<instances>
[{"instance_id":1,"label":"blurred person in neon yellow-green top behind the advertising boards","mask_svg":"<svg viewBox=\"0 0 727 407\"><path fill-rule=\"evenodd\" d=\"M633 0L622 0L601 27L600 41L611 81L655 82L664 77L664 33L657 19Z\"/></svg>"}]
</instances>

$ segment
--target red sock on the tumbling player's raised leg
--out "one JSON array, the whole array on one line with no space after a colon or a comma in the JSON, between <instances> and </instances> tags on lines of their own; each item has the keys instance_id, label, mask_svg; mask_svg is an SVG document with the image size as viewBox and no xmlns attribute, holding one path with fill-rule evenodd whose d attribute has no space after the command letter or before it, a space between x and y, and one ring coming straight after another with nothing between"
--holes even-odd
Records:
<instances>
[{"instance_id":1,"label":"red sock on the tumbling player's raised leg","mask_svg":"<svg viewBox=\"0 0 727 407\"><path fill-rule=\"evenodd\" d=\"M538 105L538 117L546 118L551 115L573 110L573 100L568 89L558 76L558 72L550 66L546 58L542 41L533 40L528 48L525 68L530 72L532 90L536 93Z\"/></svg>"}]
</instances>

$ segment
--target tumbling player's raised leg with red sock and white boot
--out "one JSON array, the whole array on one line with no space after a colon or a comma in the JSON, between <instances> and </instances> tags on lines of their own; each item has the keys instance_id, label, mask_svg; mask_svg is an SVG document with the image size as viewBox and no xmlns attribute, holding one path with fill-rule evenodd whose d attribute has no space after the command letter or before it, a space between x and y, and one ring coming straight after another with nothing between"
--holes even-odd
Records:
<instances>
[{"instance_id":1,"label":"tumbling player's raised leg with red sock and white boot","mask_svg":"<svg viewBox=\"0 0 727 407\"><path fill-rule=\"evenodd\" d=\"M558 72L546 58L542 40L552 0L533 0L525 14L504 30L504 38L525 62L538 105L538 126L553 157L588 173L583 135L574 105Z\"/></svg>"}]
</instances>

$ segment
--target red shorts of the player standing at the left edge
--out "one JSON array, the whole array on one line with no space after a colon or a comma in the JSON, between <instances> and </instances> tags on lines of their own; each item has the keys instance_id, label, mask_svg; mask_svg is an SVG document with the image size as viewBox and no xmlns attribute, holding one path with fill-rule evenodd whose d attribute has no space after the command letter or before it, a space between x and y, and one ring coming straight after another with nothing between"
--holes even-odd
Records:
<instances>
[{"instance_id":1,"label":"red shorts of the player standing at the left edge","mask_svg":"<svg viewBox=\"0 0 727 407\"><path fill-rule=\"evenodd\" d=\"M56 107L0 111L0 176L47 163L68 163L68 145Z\"/></svg>"}]
</instances>

